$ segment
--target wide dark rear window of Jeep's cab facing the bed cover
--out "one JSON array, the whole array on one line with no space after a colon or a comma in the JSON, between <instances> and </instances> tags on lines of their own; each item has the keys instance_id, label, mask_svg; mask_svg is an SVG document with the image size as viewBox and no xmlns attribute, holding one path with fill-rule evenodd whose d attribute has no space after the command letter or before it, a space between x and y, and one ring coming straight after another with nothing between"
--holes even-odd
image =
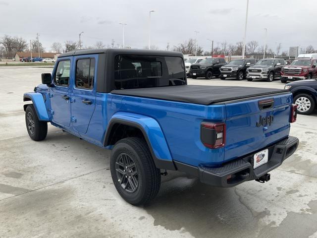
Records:
<instances>
[{"instance_id":1,"label":"wide dark rear window of Jeep's cab facing the bed cover","mask_svg":"<svg viewBox=\"0 0 317 238\"><path fill-rule=\"evenodd\" d=\"M116 56L114 88L150 88L186 84L183 59L164 56Z\"/></svg>"}]
</instances>

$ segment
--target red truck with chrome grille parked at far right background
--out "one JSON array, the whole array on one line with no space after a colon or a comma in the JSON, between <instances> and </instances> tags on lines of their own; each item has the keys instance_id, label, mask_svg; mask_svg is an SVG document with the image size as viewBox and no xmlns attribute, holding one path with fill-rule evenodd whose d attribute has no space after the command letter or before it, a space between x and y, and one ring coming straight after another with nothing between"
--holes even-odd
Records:
<instances>
[{"instance_id":1,"label":"red truck with chrome grille parked at far right background","mask_svg":"<svg viewBox=\"0 0 317 238\"><path fill-rule=\"evenodd\" d=\"M310 79L317 77L316 59L297 59L281 70L281 82Z\"/></svg>"}]
</instances>

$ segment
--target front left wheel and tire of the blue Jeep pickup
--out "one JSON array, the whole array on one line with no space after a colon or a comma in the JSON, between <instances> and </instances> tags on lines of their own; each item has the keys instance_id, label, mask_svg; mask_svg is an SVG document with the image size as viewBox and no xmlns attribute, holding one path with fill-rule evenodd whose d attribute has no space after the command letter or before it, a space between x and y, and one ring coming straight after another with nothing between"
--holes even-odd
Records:
<instances>
[{"instance_id":1,"label":"front left wheel and tire of the blue Jeep pickup","mask_svg":"<svg viewBox=\"0 0 317 238\"><path fill-rule=\"evenodd\" d=\"M32 140L40 141L46 138L48 134L48 123L39 120L33 104L27 106L25 110L25 124Z\"/></svg>"}]
</instances>

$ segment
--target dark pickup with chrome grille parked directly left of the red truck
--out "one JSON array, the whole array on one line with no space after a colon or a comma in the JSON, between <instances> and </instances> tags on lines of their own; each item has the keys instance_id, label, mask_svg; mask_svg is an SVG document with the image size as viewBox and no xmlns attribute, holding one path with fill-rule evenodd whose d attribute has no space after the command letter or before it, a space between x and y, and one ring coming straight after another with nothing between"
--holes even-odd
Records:
<instances>
[{"instance_id":1,"label":"dark pickup with chrome grille parked directly left of the red truck","mask_svg":"<svg viewBox=\"0 0 317 238\"><path fill-rule=\"evenodd\" d=\"M266 79L272 82L280 77L281 68L285 65L283 59L263 59L256 62L254 66L247 68L247 80Z\"/></svg>"}]
</instances>

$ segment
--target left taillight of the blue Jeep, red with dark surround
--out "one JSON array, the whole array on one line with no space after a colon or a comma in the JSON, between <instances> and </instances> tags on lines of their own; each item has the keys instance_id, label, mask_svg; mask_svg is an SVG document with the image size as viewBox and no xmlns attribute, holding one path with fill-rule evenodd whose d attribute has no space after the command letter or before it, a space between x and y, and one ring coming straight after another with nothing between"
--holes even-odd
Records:
<instances>
[{"instance_id":1,"label":"left taillight of the blue Jeep, red with dark surround","mask_svg":"<svg viewBox=\"0 0 317 238\"><path fill-rule=\"evenodd\" d=\"M203 122L201 124L201 141L211 149L223 147L226 141L226 124Z\"/></svg>"}]
</instances>

